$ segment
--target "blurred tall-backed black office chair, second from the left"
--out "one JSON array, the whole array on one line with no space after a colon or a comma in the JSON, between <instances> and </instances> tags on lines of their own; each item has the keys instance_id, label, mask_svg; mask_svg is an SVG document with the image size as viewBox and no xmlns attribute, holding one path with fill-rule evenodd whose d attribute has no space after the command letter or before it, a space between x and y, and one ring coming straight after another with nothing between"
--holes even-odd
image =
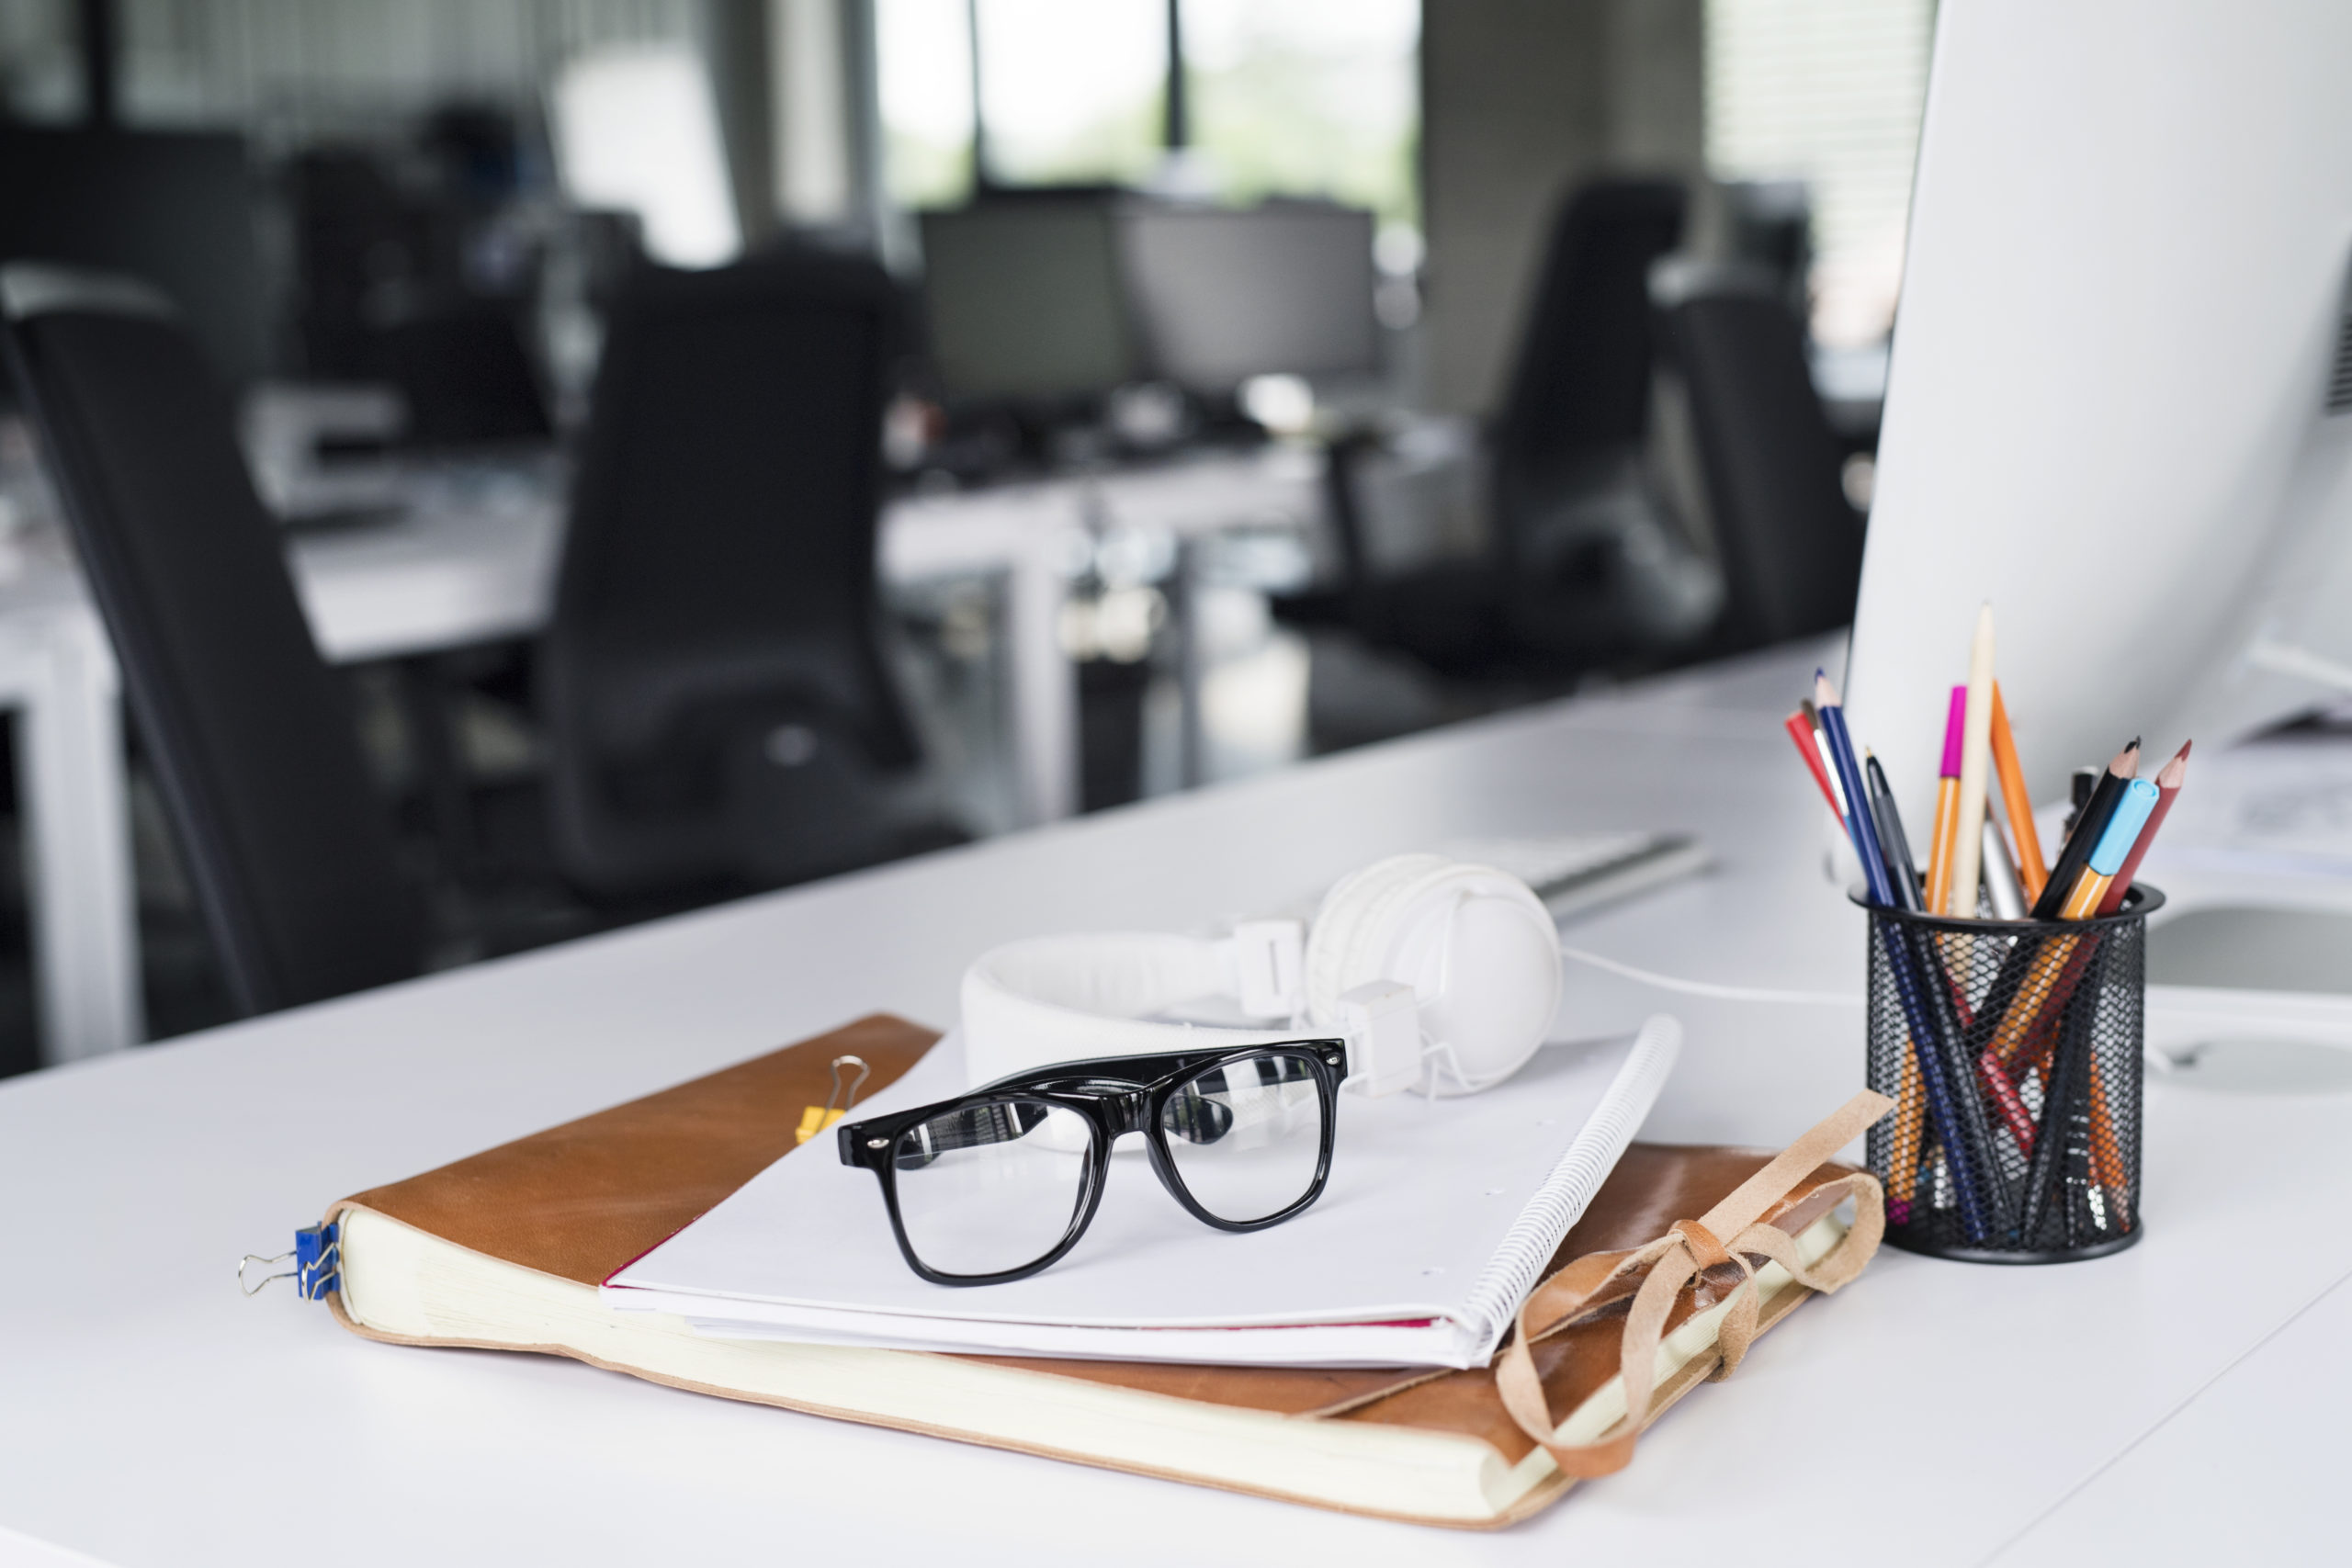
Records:
<instances>
[{"instance_id":1,"label":"blurred tall-backed black office chair, second from the left","mask_svg":"<svg viewBox=\"0 0 2352 1568\"><path fill-rule=\"evenodd\" d=\"M877 635L891 306L826 256L623 289L539 670L583 889L779 886L962 837L887 806L917 762Z\"/></svg>"}]
</instances>

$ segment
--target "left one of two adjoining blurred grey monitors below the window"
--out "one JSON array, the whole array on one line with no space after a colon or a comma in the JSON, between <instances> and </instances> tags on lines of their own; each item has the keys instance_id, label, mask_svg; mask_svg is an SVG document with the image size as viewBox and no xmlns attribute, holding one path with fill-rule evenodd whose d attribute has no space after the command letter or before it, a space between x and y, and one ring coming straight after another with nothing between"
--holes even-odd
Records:
<instances>
[{"instance_id":1,"label":"left one of two adjoining blurred grey monitors below the window","mask_svg":"<svg viewBox=\"0 0 2352 1568\"><path fill-rule=\"evenodd\" d=\"M1143 371L1115 221L1096 197L922 214L931 364L950 395L1049 402Z\"/></svg>"}]
</instances>

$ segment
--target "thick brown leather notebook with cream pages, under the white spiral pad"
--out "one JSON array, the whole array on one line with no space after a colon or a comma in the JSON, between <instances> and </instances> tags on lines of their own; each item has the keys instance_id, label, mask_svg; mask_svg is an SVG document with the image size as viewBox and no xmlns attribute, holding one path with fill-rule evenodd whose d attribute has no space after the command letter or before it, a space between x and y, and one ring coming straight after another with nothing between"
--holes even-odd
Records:
<instances>
[{"instance_id":1,"label":"thick brown leather notebook with cream pages, under the white spiral pad","mask_svg":"<svg viewBox=\"0 0 2352 1568\"><path fill-rule=\"evenodd\" d=\"M861 1086L870 1095L936 1039L901 1018L861 1018L341 1199L327 1211L341 1248L327 1300L372 1340L576 1356L703 1394L1359 1514L1498 1526L1573 1486L1505 1408L1491 1368L1164 1366L715 1340L677 1316L602 1305L607 1276L795 1150L807 1110L830 1098L833 1058L870 1063ZM823 1159L833 1140L814 1147ZM1766 1159L1632 1145L1545 1274L1656 1241ZM1795 1239L1797 1255L1818 1258L1844 1237L1832 1208L1849 1175L1816 1168L1762 1222ZM1757 1279L1759 1328L1811 1295L1776 1265ZM1736 1284L1736 1267L1717 1267L1682 1286L1649 1420L1717 1368L1712 1328ZM1566 1413L1562 1432L1583 1420L1597 1436L1623 1415L1625 1321L1616 1295L1531 1342L1550 1410Z\"/></svg>"}]
</instances>

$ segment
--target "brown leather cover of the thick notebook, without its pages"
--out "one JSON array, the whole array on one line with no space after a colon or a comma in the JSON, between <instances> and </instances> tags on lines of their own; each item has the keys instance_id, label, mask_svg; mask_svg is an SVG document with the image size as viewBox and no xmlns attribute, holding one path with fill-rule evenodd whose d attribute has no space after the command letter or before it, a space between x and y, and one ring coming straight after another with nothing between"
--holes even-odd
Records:
<instances>
[{"instance_id":1,"label":"brown leather cover of the thick notebook, without its pages","mask_svg":"<svg viewBox=\"0 0 2352 1568\"><path fill-rule=\"evenodd\" d=\"M936 1030L875 1013L830 1034L517 1138L437 1171L369 1187L332 1204L327 1218L336 1220L355 1206L369 1208L475 1253L581 1286L600 1286L793 1152L804 1110L826 1105L833 1093L833 1058L854 1053L873 1067L861 1084L861 1098L870 1098L913 1067L936 1039ZM818 1135L811 1145L818 1157L833 1152L828 1135ZM1663 1237L1675 1220L1705 1213L1769 1159L1771 1152L1762 1150L1630 1145L1545 1274L1588 1253L1635 1248ZM1846 1166L1820 1166L1764 1220L1795 1237L1837 1204L1842 1194L1818 1190L1846 1173ZM880 1211L875 1218L880 1222ZM1722 1302L1726 1293L1719 1281L1698 1276L1675 1302L1668 1328ZM1773 1295L1764 1307L1764 1326L1776 1324L1806 1295L1811 1293L1797 1286ZM355 1333L400 1340L353 1321L343 1312L341 1295L329 1295L329 1305ZM1621 1328L1623 1309L1599 1312L1592 1321L1536 1342L1536 1371L1555 1410L1576 1408L1618 1373ZM548 1349L579 1354L560 1345ZM1489 1368L1334 1371L969 1359L1042 1378L1077 1378L1230 1408L1475 1436L1505 1462L1519 1462L1534 1450L1534 1441L1503 1408ZM1708 1352L1663 1380L1651 1418L1715 1371L1715 1352ZM1552 1476L1494 1523L1522 1519L1569 1486L1569 1479Z\"/></svg>"}]
</instances>

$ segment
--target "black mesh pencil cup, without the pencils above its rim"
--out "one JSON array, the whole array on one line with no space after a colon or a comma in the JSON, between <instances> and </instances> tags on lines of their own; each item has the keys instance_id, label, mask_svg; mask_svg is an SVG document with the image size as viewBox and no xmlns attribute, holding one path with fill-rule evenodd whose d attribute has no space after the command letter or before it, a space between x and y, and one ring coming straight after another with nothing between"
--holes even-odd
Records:
<instances>
[{"instance_id":1,"label":"black mesh pencil cup, without the pencils above its rim","mask_svg":"<svg viewBox=\"0 0 2352 1568\"><path fill-rule=\"evenodd\" d=\"M1860 903L1860 900L1858 900ZM2147 914L1940 919L1870 907L1870 1128L1886 1241L2072 1262L2140 1239Z\"/></svg>"}]
</instances>

